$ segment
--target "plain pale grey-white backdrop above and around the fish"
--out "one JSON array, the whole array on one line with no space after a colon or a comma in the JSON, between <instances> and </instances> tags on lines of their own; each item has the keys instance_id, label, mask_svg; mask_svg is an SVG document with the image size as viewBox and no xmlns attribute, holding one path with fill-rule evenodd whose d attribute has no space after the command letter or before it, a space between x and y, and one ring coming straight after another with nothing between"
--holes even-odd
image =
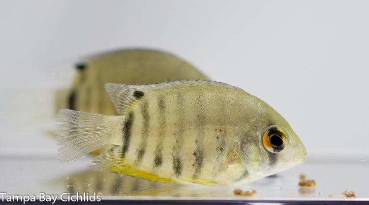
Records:
<instances>
[{"instance_id":1,"label":"plain pale grey-white backdrop above and around the fish","mask_svg":"<svg viewBox=\"0 0 369 205\"><path fill-rule=\"evenodd\" d=\"M14 88L54 89L72 70L58 65L141 47L174 53L261 98L287 119L308 156L369 154L369 1L0 4L2 152L57 152L54 139L32 132L37 123L25 117L51 103L41 100L44 91Z\"/></svg>"}]
</instances>

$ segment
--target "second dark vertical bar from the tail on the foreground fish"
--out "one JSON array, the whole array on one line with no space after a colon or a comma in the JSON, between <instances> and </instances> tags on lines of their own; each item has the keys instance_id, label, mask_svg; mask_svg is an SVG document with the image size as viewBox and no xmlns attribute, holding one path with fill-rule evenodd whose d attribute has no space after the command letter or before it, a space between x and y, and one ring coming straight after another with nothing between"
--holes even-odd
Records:
<instances>
[{"instance_id":1,"label":"second dark vertical bar from the tail on the foreground fish","mask_svg":"<svg viewBox=\"0 0 369 205\"><path fill-rule=\"evenodd\" d=\"M141 142L136 150L137 162L141 162L142 158L146 152L147 146L147 131L150 126L150 115L149 115L149 103L145 100L141 104L141 115L142 115L142 133L141 133Z\"/></svg>"}]
</instances>

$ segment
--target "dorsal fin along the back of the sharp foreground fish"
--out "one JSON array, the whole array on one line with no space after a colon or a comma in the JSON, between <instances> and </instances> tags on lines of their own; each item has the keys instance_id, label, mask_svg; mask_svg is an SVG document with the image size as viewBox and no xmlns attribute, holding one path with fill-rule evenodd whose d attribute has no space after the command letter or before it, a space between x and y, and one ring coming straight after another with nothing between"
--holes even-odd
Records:
<instances>
[{"instance_id":1,"label":"dorsal fin along the back of the sharp foreground fish","mask_svg":"<svg viewBox=\"0 0 369 205\"><path fill-rule=\"evenodd\" d=\"M241 90L240 88L230 86L225 83L205 80L181 80L137 86L115 83L105 84L105 88L115 106L115 109L119 114L122 115L126 115L127 111L134 104L134 102L142 98L148 91L162 90L167 88L180 88L180 87L184 88L193 86L214 86Z\"/></svg>"}]
</instances>

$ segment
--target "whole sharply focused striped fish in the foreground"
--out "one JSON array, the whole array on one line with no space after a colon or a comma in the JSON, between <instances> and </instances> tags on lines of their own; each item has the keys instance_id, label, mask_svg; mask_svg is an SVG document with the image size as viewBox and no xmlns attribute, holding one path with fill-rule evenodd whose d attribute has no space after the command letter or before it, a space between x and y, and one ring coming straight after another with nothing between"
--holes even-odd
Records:
<instances>
[{"instance_id":1,"label":"whole sharply focused striped fish in the foreground","mask_svg":"<svg viewBox=\"0 0 369 205\"><path fill-rule=\"evenodd\" d=\"M236 186L306 161L288 122L241 88L205 80L105 88L120 115L60 110L61 162L114 145L93 159L92 170Z\"/></svg>"}]
</instances>

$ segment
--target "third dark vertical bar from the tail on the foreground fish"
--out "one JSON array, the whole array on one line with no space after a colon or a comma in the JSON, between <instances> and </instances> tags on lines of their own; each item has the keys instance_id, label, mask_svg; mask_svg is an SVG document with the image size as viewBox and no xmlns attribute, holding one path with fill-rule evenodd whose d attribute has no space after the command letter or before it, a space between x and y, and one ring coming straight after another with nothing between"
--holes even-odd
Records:
<instances>
[{"instance_id":1,"label":"third dark vertical bar from the tail on the foreground fish","mask_svg":"<svg viewBox=\"0 0 369 205\"><path fill-rule=\"evenodd\" d=\"M163 164L163 156L162 156L162 149L163 149L163 138L165 135L165 101L164 96L159 96L157 99L157 106L159 108L159 142L156 145L155 152L154 152L154 167L160 167Z\"/></svg>"}]
</instances>

